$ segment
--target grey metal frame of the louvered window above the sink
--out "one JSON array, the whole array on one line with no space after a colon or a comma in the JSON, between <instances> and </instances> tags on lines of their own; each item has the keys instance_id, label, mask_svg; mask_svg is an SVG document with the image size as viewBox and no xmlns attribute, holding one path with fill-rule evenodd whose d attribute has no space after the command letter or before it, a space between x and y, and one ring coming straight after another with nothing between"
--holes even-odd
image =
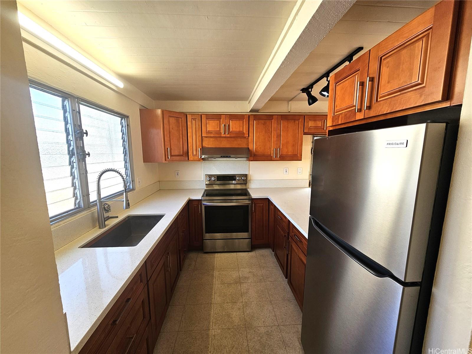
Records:
<instances>
[{"instance_id":1,"label":"grey metal frame of the louvered window above the sink","mask_svg":"<svg viewBox=\"0 0 472 354\"><path fill-rule=\"evenodd\" d=\"M73 160L76 161L77 164L77 171L78 176L76 182L76 188L78 188L78 194L80 195L80 207L76 207L74 209L70 209L68 211L64 211L63 213L53 215L49 218L51 225L59 223L60 221L66 220L73 216L78 215L84 211L92 210L96 205L97 202L93 201L90 202L90 194L88 189L88 179L87 179L87 162L85 155L86 151L84 148L84 135L83 135L83 127L82 127L82 119L80 117L80 105L85 105L95 110L100 110L107 114L111 114L116 116L117 118L124 119L125 126L124 129L126 130L125 138L126 138L126 155L125 155L125 166L126 166L126 158L127 164L129 166L129 176L125 176L126 178L129 177L129 185L130 188L126 189L128 192L135 190L135 177L134 177L134 165L133 165L133 151L132 151L132 143L131 143L131 127L129 124L129 116L118 112L116 110L112 110L108 107L105 107L99 103L87 100L83 97L74 95L72 93L68 93L62 90L59 90L49 84L43 84L34 79L29 79L29 87L33 87L34 89L41 90L45 93L51 93L54 95L58 95L63 99L67 99L67 109L69 110L69 118L71 123L71 128L74 131L74 136L71 138L72 145L73 145L73 153L72 156ZM66 135L67 135L66 131ZM70 132L69 132L70 136ZM67 146L69 146L69 141L67 141ZM70 147L69 147L70 148ZM126 169L125 169L126 171ZM125 172L126 173L126 172ZM72 176L74 178L74 176ZM114 194L106 195L102 198L103 202L106 202L107 199L114 199L119 195L122 195L122 192L117 192Z\"/></svg>"}]
</instances>

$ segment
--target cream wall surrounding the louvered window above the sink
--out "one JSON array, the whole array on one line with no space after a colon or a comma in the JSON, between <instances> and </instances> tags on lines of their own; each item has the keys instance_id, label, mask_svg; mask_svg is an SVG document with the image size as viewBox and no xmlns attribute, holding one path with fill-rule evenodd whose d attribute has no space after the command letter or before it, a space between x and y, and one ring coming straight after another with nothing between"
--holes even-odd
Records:
<instances>
[{"instance_id":1,"label":"cream wall surrounding the louvered window above the sink","mask_svg":"<svg viewBox=\"0 0 472 354\"><path fill-rule=\"evenodd\" d=\"M38 19L35 20L40 22ZM47 26L43 23L42 25ZM139 109L146 108L143 104L149 103L151 106L148 105L147 107L152 108L153 101L146 100L147 96L143 97L143 93L136 92L134 87L127 87L129 84L126 84L126 82L124 91L111 87L103 80L87 73L83 68L76 67L70 59L54 51L44 42L25 32L22 33L25 36L23 48L26 68L30 78L129 116L135 177L135 191L129 194L130 204L135 204L157 191L159 189L158 164L143 163L139 119ZM141 178L142 181L140 186L137 183L138 178ZM111 202L110 205L113 215L123 211L122 203ZM59 249L78 236L97 227L97 225L96 212L93 209L54 224L52 227L54 249Z\"/></svg>"}]
</instances>

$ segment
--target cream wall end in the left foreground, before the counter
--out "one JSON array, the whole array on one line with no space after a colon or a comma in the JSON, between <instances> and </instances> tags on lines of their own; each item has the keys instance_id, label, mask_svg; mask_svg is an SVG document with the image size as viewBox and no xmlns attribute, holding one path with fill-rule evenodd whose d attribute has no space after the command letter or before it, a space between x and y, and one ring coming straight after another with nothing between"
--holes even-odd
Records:
<instances>
[{"instance_id":1,"label":"cream wall end in the left foreground, before the counter","mask_svg":"<svg viewBox=\"0 0 472 354\"><path fill-rule=\"evenodd\" d=\"M69 353L15 1L0 1L1 353Z\"/></svg>"}]
</instances>

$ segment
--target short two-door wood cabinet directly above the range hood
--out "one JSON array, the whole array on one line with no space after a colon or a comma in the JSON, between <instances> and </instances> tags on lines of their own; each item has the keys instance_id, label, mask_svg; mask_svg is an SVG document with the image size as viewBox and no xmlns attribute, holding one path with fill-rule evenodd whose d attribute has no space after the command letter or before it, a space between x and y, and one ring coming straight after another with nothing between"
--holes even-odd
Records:
<instances>
[{"instance_id":1,"label":"short two-door wood cabinet directly above the range hood","mask_svg":"<svg viewBox=\"0 0 472 354\"><path fill-rule=\"evenodd\" d=\"M202 114L202 136L248 136L247 114Z\"/></svg>"}]
</instances>

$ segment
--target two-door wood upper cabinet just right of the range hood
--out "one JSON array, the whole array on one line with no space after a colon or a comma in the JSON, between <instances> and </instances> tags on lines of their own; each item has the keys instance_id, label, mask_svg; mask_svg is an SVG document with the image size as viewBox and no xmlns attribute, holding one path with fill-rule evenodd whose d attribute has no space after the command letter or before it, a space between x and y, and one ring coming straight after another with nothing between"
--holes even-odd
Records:
<instances>
[{"instance_id":1,"label":"two-door wood upper cabinet just right of the range hood","mask_svg":"<svg viewBox=\"0 0 472 354\"><path fill-rule=\"evenodd\" d=\"M250 160L302 160L303 122L301 115L251 115Z\"/></svg>"}]
</instances>

